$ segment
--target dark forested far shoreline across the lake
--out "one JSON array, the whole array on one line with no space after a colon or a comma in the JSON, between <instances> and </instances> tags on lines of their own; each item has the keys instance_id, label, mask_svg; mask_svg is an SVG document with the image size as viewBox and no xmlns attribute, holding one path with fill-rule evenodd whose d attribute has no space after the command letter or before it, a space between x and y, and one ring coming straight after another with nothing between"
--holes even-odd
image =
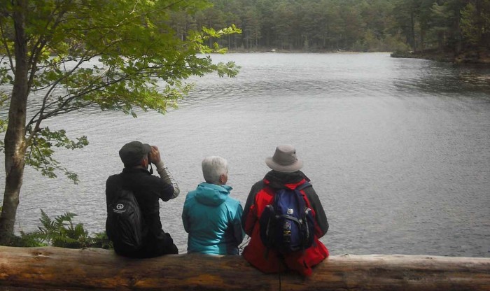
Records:
<instances>
[{"instance_id":1,"label":"dark forested far shoreline across the lake","mask_svg":"<svg viewBox=\"0 0 490 291\"><path fill-rule=\"evenodd\" d=\"M218 43L230 51L389 51L395 56L490 62L490 0L210 0L188 29L235 24L241 34ZM210 40L210 43L212 40Z\"/></svg>"}]
</instances>

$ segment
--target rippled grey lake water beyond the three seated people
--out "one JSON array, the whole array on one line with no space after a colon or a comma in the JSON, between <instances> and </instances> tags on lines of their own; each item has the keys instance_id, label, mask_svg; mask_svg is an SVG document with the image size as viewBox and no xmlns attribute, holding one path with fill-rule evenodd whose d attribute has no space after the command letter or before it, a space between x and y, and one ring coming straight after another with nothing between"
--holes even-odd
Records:
<instances>
[{"instance_id":1,"label":"rippled grey lake water beyond the three seated people","mask_svg":"<svg viewBox=\"0 0 490 291\"><path fill-rule=\"evenodd\" d=\"M237 78L195 78L195 92L167 115L85 111L47 122L90 146L58 159L80 176L73 185L27 169L17 229L77 213L102 232L106 178L127 141L160 147L181 186L161 204L162 224L181 253L185 195L200 183L200 162L230 162L228 184L245 204L267 173L264 159L292 143L330 222L321 239L333 255L490 257L490 69L369 54L229 54ZM2 176L3 175L3 176ZM4 173L0 173L3 189ZM1 198L0 198L1 199Z\"/></svg>"}]
</instances>

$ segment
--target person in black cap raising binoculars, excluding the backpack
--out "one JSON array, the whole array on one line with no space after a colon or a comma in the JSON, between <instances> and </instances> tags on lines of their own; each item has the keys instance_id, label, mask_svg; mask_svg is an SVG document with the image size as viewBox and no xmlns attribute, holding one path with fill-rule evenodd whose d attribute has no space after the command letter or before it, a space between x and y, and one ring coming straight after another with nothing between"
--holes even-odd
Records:
<instances>
[{"instance_id":1,"label":"person in black cap raising binoculars, excluding the backpack","mask_svg":"<svg viewBox=\"0 0 490 291\"><path fill-rule=\"evenodd\" d=\"M107 211L111 203L118 197L118 189L132 190L137 199L144 220L143 244L138 250L127 251L120 248L118 241L113 241L114 250L125 257L158 257L160 255L178 254L172 236L162 229L160 221L160 202L169 201L179 196L179 185L174 181L156 146L132 141L119 150L124 164L122 173L110 176L106 181ZM149 164L155 164L160 178L153 176L153 168L148 171ZM106 231L111 239L111 231Z\"/></svg>"}]
</instances>

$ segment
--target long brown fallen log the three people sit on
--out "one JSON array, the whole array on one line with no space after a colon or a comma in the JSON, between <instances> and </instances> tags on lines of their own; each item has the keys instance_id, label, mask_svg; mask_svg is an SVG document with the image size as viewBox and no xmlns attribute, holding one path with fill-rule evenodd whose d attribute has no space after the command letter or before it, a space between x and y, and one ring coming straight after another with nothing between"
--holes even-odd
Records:
<instances>
[{"instance_id":1,"label":"long brown fallen log the three people sit on","mask_svg":"<svg viewBox=\"0 0 490 291\"><path fill-rule=\"evenodd\" d=\"M279 290L240 256L137 260L111 250L0 246L0 290ZM490 258L340 255L309 278L281 274L282 290L490 290Z\"/></svg>"}]
</instances>

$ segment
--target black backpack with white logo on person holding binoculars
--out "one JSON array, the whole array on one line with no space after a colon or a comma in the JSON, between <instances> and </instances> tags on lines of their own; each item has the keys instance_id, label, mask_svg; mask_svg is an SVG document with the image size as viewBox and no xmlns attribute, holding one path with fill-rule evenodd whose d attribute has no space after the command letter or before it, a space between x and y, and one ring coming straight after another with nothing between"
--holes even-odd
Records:
<instances>
[{"instance_id":1,"label":"black backpack with white logo on person holding binoculars","mask_svg":"<svg viewBox=\"0 0 490 291\"><path fill-rule=\"evenodd\" d=\"M135 251L143 244L144 220L138 201L131 190L119 189L109 204L107 236L118 250Z\"/></svg>"}]
</instances>

